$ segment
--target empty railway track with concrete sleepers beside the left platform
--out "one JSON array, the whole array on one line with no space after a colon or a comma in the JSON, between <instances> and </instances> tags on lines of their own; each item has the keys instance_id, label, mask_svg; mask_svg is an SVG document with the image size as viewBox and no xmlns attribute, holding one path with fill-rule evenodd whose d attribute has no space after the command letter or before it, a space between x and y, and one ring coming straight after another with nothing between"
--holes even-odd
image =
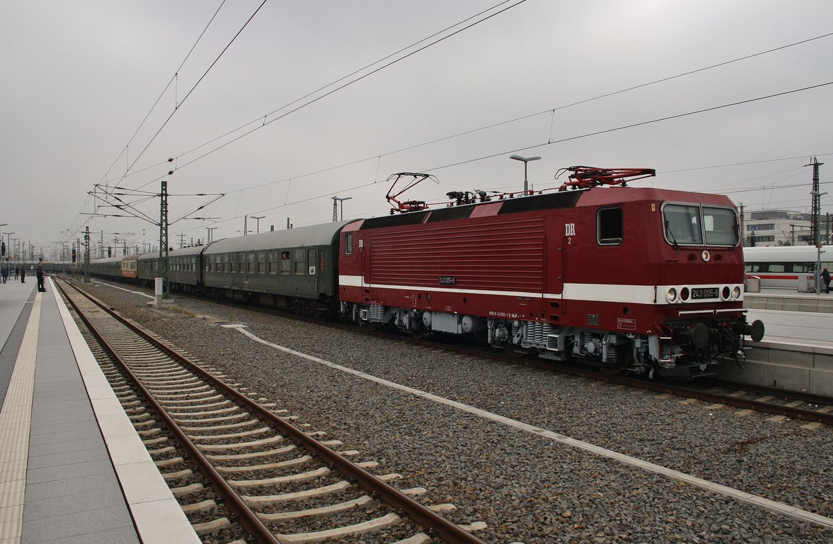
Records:
<instances>
[{"instance_id":1,"label":"empty railway track with concrete sleepers beside the left platform","mask_svg":"<svg viewBox=\"0 0 833 544\"><path fill-rule=\"evenodd\" d=\"M177 482L190 469L182 468L182 458L171 457L176 448L160 447L167 442L157 437L162 426L257 542L318 542L367 533L378 542L416 544L436 537L450 543L481 542L470 532L480 527L460 527L437 513L453 505L417 502L412 497L423 493L421 488L397 490L389 483L396 474L374 475L377 463L352 462L348 457L358 452L338 451L341 442L320 440L322 433L295 427L292 417L254 402L252 393L222 382L222 376L71 284L58 285L101 351L119 367L105 373L129 380L117 385L117 395L129 406L152 455L165 457L157 462L163 477ZM140 395L141 400L133 398ZM173 491L188 497L197 489ZM201 519L212 517L210 500L183 509L191 515L203 512ZM218 516L195 524L195 529L217 532L230 524Z\"/></svg>"}]
</instances>

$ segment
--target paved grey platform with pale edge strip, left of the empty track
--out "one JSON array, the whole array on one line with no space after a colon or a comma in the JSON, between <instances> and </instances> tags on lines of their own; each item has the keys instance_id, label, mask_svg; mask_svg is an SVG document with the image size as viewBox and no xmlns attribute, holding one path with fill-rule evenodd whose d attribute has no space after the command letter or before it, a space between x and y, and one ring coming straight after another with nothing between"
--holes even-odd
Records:
<instances>
[{"instance_id":1,"label":"paved grey platform with pale edge strip, left of the empty track","mask_svg":"<svg viewBox=\"0 0 833 544\"><path fill-rule=\"evenodd\" d=\"M0 544L200 542L55 288L0 283Z\"/></svg>"}]
</instances>

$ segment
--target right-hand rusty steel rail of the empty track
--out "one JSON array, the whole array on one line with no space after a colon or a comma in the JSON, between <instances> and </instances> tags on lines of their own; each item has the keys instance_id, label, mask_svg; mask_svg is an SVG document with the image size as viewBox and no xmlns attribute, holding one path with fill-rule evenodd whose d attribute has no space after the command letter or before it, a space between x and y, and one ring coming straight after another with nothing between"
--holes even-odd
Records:
<instances>
[{"instance_id":1,"label":"right-hand rusty steel rail of the empty track","mask_svg":"<svg viewBox=\"0 0 833 544\"><path fill-rule=\"evenodd\" d=\"M481 539L475 537L470 532L466 532L466 530L458 527L455 523L449 522L445 517L441 517L436 514L436 512L433 512L428 507L422 505L420 502L414 501L411 497L408 497L404 493L400 492L396 487L392 487L386 482L383 482L379 478L373 476L370 472L367 472L362 467L359 467L346 457L343 457L338 452L324 446L315 438L308 436L305 432L286 422L281 417L277 417L271 411L267 410L267 408L262 407L260 404L252 401L241 392L237 392L237 390L229 387L226 383L222 382L217 377L212 376L211 373L207 372L202 367L197 366L180 353L174 351L171 347L168 347L156 338L147 335L147 333L143 332L141 328L137 327L132 322L127 321L124 317L119 316L116 312L113 312L109 307L107 307L107 305L97 301L95 297L92 297L87 292L80 289L77 289L77 291L84 297L87 297L91 302L97 304L98 307L101 307L102 310L107 312L108 315L114 317L119 322L122 322L122 324L126 327L130 328L133 332L142 336L142 338L147 340L147 342L151 342L155 347L161 349L170 357L175 358L177 362L181 362L193 372L199 374L200 377L205 379L207 382L211 382L212 385L221 389L222 392L226 393L237 402L240 402L242 405L252 410L252 412L257 412L260 417L267 420L267 422L270 422L281 432L284 432L288 436L292 437L293 440L300 442L305 448L307 448L308 451L315 453L323 461L331 464L333 467L337 467L339 472L342 472L345 476L358 482L359 485L367 489L368 492L372 492L377 496L382 497L384 502L387 502L387 504L392 507L402 509L403 512L407 513L408 517L419 523L422 527L426 527L436 532L436 534L444 541L449 542L449 544L485 544L481 541ZM227 484L223 483L223 486L227 487ZM239 498L236 492L232 491L232 493L235 497ZM242 502L242 499L240 499L240 501ZM258 520L258 522L260 522L260 520Z\"/></svg>"}]
</instances>

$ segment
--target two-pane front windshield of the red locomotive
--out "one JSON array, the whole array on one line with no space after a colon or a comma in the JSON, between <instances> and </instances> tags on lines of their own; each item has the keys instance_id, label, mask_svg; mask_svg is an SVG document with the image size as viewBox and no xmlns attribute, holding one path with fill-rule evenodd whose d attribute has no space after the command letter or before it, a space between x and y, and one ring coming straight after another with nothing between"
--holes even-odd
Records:
<instances>
[{"instance_id":1,"label":"two-pane front windshield of the red locomotive","mask_svg":"<svg viewBox=\"0 0 833 544\"><path fill-rule=\"evenodd\" d=\"M666 204L662 207L662 219L666 240L675 246L737 243L737 215L731 207Z\"/></svg>"}]
</instances>

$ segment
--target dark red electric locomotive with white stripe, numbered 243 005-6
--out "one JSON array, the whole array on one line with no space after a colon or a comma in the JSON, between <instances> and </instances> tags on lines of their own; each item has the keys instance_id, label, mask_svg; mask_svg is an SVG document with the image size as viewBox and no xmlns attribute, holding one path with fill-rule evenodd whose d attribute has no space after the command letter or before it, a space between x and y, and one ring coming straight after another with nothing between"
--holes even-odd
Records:
<instances>
[{"instance_id":1,"label":"dark red electric locomotive with white stripe, numbered 243 005-6","mask_svg":"<svg viewBox=\"0 0 833 544\"><path fill-rule=\"evenodd\" d=\"M653 170L569 170L558 192L449 193L441 209L389 196L402 213L340 233L342 317L613 372L693 377L743 360L743 337L764 327L746 322L731 201L626 187Z\"/></svg>"}]
</instances>

